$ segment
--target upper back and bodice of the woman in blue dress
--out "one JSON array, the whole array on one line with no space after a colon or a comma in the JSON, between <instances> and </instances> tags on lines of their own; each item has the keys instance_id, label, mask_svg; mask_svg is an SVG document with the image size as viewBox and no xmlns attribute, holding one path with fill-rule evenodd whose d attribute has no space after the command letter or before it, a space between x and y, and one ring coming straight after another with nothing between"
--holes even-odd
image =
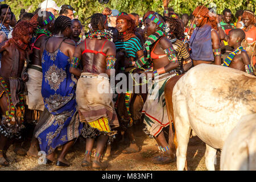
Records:
<instances>
[{"instance_id":1,"label":"upper back and bodice of the woman in blue dress","mask_svg":"<svg viewBox=\"0 0 256 182\"><path fill-rule=\"evenodd\" d=\"M74 96L76 78L69 73L71 62L69 48L72 46L65 43L65 38L53 37L46 41L42 55L42 96L44 98L54 96L58 97L55 98L56 101L69 101Z\"/></svg>"}]
</instances>

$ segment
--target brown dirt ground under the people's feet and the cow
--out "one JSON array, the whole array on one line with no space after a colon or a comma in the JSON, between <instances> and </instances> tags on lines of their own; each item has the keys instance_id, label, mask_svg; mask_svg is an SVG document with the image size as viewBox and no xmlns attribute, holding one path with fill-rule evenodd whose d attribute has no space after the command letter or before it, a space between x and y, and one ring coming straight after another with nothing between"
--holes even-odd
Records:
<instances>
[{"instance_id":1,"label":"brown dirt ground under the people's feet and the cow","mask_svg":"<svg viewBox=\"0 0 256 182\"><path fill-rule=\"evenodd\" d=\"M133 154L123 154L123 150L127 144L118 143L118 138L114 141L112 151L108 159L103 159L103 162L109 164L107 171L176 171L176 161L170 164L158 165L151 162L151 158L158 154L158 147L155 139L149 138L142 130L135 133L137 144L141 151ZM187 151L188 169L190 171L205 171L205 144L199 138L194 138L197 143L192 143L192 138L189 141ZM28 144L23 145L23 148L28 150ZM84 171L90 170L81 167L82 159L85 152L85 139L80 137L72 150L67 154L66 159L72 163L71 167L58 168L38 164L38 159L28 156L18 156L13 152L13 146L10 146L7 151L7 158L11 160L9 167L0 167L0 171ZM92 155L93 156L93 155ZM220 152L217 153L216 170L220 166Z\"/></svg>"}]
</instances>

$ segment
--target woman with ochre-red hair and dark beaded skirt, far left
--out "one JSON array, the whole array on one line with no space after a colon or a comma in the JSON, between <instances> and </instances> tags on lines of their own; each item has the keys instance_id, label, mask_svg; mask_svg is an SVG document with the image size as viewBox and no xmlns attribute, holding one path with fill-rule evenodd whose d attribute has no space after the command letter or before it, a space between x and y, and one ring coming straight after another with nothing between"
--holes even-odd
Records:
<instances>
[{"instance_id":1,"label":"woman with ochre-red hair and dark beaded skirt, far left","mask_svg":"<svg viewBox=\"0 0 256 182\"><path fill-rule=\"evenodd\" d=\"M13 38L0 44L0 165L9 166L6 160L11 139L21 139L24 129L24 82L34 26L21 21L14 27Z\"/></svg>"}]
</instances>

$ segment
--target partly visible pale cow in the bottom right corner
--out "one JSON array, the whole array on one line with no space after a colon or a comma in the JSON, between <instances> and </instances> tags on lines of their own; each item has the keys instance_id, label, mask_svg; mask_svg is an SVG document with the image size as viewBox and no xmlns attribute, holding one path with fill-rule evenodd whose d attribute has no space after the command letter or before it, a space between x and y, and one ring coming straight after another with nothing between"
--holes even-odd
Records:
<instances>
[{"instance_id":1,"label":"partly visible pale cow in the bottom right corner","mask_svg":"<svg viewBox=\"0 0 256 182\"><path fill-rule=\"evenodd\" d=\"M243 116L226 138L221 151L220 169L256 170L256 113Z\"/></svg>"}]
</instances>

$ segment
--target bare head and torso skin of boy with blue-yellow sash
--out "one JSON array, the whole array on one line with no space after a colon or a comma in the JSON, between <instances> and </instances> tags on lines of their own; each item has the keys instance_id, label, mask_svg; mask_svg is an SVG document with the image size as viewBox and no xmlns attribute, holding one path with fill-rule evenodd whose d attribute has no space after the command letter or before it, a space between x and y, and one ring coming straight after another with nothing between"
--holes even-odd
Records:
<instances>
[{"instance_id":1,"label":"bare head and torso skin of boy with blue-yellow sash","mask_svg":"<svg viewBox=\"0 0 256 182\"><path fill-rule=\"evenodd\" d=\"M228 35L228 44L230 47L233 47L234 49L237 49L241 46L241 38L240 36L234 34L233 32L229 32ZM240 54L237 54L232 59L229 68L238 69L240 71L245 72L245 65L250 64L250 57L247 55L245 51L241 51ZM250 75L253 75L253 73L250 73Z\"/></svg>"}]
</instances>

